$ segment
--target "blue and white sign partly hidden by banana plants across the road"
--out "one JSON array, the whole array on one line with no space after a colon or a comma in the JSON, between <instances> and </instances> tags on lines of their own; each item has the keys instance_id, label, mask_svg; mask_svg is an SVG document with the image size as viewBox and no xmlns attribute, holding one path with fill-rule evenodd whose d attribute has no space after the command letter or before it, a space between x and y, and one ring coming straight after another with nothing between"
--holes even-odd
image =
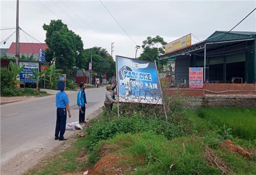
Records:
<instances>
[{"instance_id":1,"label":"blue and white sign partly hidden by banana plants across the road","mask_svg":"<svg viewBox=\"0 0 256 175\"><path fill-rule=\"evenodd\" d=\"M19 67L22 67L23 65L25 65L25 68L19 74L20 81L25 83L35 83L35 80L30 79L28 75L33 76L31 69L34 69L35 71L39 72L39 63L19 61Z\"/></svg>"}]
</instances>

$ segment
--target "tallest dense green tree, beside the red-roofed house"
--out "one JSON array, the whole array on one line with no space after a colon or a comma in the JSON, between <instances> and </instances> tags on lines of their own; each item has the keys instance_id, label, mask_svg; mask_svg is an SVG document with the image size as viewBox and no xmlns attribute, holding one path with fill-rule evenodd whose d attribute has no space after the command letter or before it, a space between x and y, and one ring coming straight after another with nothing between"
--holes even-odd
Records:
<instances>
[{"instance_id":1,"label":"tallest dense green tree, beside the red-roofed house","mask_svg":"<svg viewBox=\"0 0 256 175\"><path fill-rule=\"evenodd\" d=\"M69 30L66 24L60 19L51 20L49 25L44 24L46 31L46 49L47 62L53 63L57 69L63 70L70 75L74 67L81 68L84 63L81 53L83 52L83 43L81 37Z\"/></svg>"}]
</instances>

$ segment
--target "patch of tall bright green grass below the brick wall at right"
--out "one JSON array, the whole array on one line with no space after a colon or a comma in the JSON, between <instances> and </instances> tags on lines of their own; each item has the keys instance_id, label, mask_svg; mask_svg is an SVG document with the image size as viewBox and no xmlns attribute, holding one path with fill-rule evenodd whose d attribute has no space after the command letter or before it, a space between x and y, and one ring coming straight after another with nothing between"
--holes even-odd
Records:
<instances>
[{"instance_id":1,"label":"patch of tall bright green grass below the brick wall at right","mask_svg":"<svg viewBox=\"0 0 256 175\"><path fill-rule=\"evenodd\" d=\"M199 116L219 126L232 128L241 139L256 139L256 108L200 108Z\"/></svg>"}]
</instances>

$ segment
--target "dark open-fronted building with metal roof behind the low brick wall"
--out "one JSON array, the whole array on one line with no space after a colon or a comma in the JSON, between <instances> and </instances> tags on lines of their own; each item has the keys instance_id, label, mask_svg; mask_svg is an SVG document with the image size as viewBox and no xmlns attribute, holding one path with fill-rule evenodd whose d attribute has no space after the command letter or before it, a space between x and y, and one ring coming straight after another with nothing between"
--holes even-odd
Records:
<instances>
[{"instance_id":1,"label":"dark open-fronted building with metal roof behind the low brick wall","mask_svg":"<svg viewBox=\"0 0 256 175\"><path fill-rule=\"evenodd\" d=\"M204 81L254 83L256 32L216 31L204 41L159 57L175 60L175 83L188 83L189 67L204 68Z\"/></svg>"}]
</instances>

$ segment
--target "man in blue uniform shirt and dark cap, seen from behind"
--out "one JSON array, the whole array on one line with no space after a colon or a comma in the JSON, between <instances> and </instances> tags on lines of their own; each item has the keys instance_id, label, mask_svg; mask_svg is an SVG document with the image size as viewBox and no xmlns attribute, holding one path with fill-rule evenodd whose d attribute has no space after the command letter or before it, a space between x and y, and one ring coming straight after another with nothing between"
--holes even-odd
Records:
<instances>
[{"instance_id":1,"label":"man in blue uniform shirt and dark cap, seen from behind","mask_svg":"<svg viewBox=\"0 0 256 175\"><path fill-rule=\"evenodd\" d=\"M58 82L57 88L60 92L56 94L56 107L57 107L57 120L55 128L55 140L67 140L63 137L66 130L67 111L69 118L71 117L69 98L65 93L65 83L63 81Z\"/></svg>"}]
</instances>

